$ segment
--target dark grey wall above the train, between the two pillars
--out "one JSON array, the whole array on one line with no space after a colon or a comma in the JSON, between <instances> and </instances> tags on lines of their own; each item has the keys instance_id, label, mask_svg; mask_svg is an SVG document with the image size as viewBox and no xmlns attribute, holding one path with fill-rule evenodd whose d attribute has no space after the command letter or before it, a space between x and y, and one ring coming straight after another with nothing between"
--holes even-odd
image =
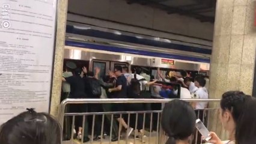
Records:
<instances>
[{"instance_id":1,"label":"dark grey wall above the train, between the two pillars","mask_svg":"<svg viewBox=\"0 0 256 144\"><path fill-rule=\"evenodd\" d=\"M125 0L70 0L69 11L96 19L127 23L157 31L172 32L206 40L213 39L213 23L201 23L191 17L167 14L166 11L145 5L129 5ZM69 19L72 17L68 17ZM106 25L106 27L108 26ZM127 29L120 30L127 31Z\"/></svg>"}]
</instances>

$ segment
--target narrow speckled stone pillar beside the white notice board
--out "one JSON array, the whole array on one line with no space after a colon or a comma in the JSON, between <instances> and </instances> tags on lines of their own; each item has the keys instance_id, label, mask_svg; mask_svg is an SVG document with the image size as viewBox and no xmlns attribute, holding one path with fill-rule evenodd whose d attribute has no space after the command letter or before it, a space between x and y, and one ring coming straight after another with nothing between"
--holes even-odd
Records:
<instances>
[{"instance_id":1,"label":"narrow speckled stone pillar beside the white notice board","mask_svg":"<svg viewBox=\"0 0 256 144\"><path fill-rule=\"evenodd\" d=\"M57 16L57 32L55 59L52 80L52 99L50 103L50 114L58 118L58 108L61 96L61 77L63 69L64 46L66 37L66 22L67 22L67 4L68 0L58 1L58 16Z\"/></svg>"}]
</instances>

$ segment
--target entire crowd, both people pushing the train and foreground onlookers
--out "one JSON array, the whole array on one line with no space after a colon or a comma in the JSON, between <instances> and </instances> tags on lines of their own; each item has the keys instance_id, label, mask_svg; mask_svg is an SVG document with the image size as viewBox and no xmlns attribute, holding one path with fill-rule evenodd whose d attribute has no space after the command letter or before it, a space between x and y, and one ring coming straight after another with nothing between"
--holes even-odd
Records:
<instances>
[{"instance_id":1,"label":"entire crowd, both people pushing the train and foreground onlookers","mask_svg":"<svg viewBox=\"0 0 256 144\"><path fill-rule=\"evenodd\" d=\"M164 82L178 83L181 85L180 94L175 85L169 86L159 84L148 74L144 73L142 68L136 68L134 73L129 73L128 67L115 65L114 71L109 72L108 76L99 77L100 69L96 68L95 73L87 71L87 68L76 68L73 62L67 62L66 71L62 77L62 98L209 98L206 79L202 76L195 77L194 81L190 77L179 76L175 74L163 77L160 70L158 75ZM168 72L169 73L169 72ZM173 72L172 72L173 74ZM160 88L159 88L160 87ZM165 95L163 95L165 94ZM177 97L178 95L178 97ZM203 109L207 103L187 103L183 100L172 100L165 104L162 112L161 125L169 139L166 144L189 144L195 143L195 120L204 119ZM115 104L71 104L67 106L67 112L124 112L124 111L144 111L154 109L153 104L142 103L115 103ZM161 106L160 106L161 109ZM160 110L157 109L157 110ZM197 109L197 110L195 110ZM240 91L228 91L222 95L220 102L219 119L222 127L229 133L229 142L227 144L248 144L256 143L256 100L250 95ZM147 115L146 115L147 116ZM112 117L114 121L112 121ZM94 115L94 137L93 140L102 139L102 117ZM135 127L140 133L142 142L146 137L144 135L144 115L130 115L127 121L126 115L106 115L104 121L103 135L112 135L112 142L118 140L118 134L121 129L130 136ZM146 119L150 119L146 117ZM157 124L158 119L154 119L153 124ZM88 142L88 131L91 128L92 118L87 116L87 121L83 121L82 116L75 117L75 130L77 139L83 139ZM85 124L83 124L85 122ZM112 124L111 124L112 122ZM127 123L129 122L129 124ZM62 140L71 139L72 119L66 118L63 130L61 130L58 121L47 113L37 113L34 109L28 109L27 112L20 113L0 127L0 143L4 144L60 144ZM118 123L121 128L118 128ZM90 127L89 127L90 125ZM112 134L110 129L112 125ZM154 125L153 129L154 129ZM249 127L250 126L250 127ZM145 122L147 127L147 122ZM82 131L84 129L84 137ZM91 128L92 129L92 128ZM155 128L156 129L156 128ZM62 135L63 134L63 135ZM201 142L201 136L198 133L197 142ZM212 137L209 142L221 144L222 141L214 133L210 132ZM136 137L135 137L136 138Z\"/></svg>"}]
</instances>

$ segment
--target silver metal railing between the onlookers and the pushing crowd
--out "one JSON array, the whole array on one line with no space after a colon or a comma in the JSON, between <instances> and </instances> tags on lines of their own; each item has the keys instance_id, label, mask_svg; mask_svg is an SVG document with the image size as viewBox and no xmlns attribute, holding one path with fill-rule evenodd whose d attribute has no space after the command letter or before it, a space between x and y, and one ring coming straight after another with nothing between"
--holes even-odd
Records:
<instances>
[{"instance_id":1,"label":"silver metal railing between the onlookers and the pushing crowd","mask_svg":"<svg viewBox=\"0 0 256 144\"><path fill-rule=\"evenodd\" d=\"M84 135L85 131L88 131L87 123L88 119L91 117L91 122L92 124L90 125L91 127L91 143L94 143L95 141L93 140L94 138L94 133L95 133L95 127L100 127L100 134L96 134L97 136L100 136L100 143L111 143L112 139L112 133L115 131L115 133L118 134L118 139L117 143L120 143L121 140L123 140L125 143L139 143L137 138L138 138L138 132L141 131L141 142L142 143L165 143L167 137L162 131L162 128L160 127L160 119L161 119L161 112L162 112L162 107L157 110L142 110L142 111L132 111L132 110L127 110L126 112L106 112L106 111L101 111L101 112L67 112L67 107L69 104L160 104L164 105L165 103L168 103L169 101L174 100L174 99L128 99L128 98L117 98L117 99L66 99L61 102L60 107L59 107L59 123L61 124L62 130L64 130L64 121L68 121L67 118L70 118L69 120L72 121L70 124L72 125L71 127L71 135L70 139L66 139L67 143L73 143L73 140L75 139L73 137L73 134L75 131L75 119L77 116L82 117L82 137L81 141L84 141ZM188 102L208 102L208 103L213 103L213 102L219 102L219 99L181 99L184 101ZM213 116L216 118L216 113L218 112L218 107L214 108L207 108L207 109L195 109L195 112L197 113L198 118L200 118L204 124L206 125L207 128L209 128L210 120L212 120ZM136 130L138 127L142 127L141 130L134 131L133 138L131 139L129 137L129 131L127 130L126 133L122 133L121 128L121 122L120 119L116 121L118 118L123 118L123 116L126 116L126 123L127 123L127 128L129 130L130 125L132 122L135 121L135 124L133 124L133 128ZM71 120L72 119L72 120ZM105 139L104 140L104 130L105 130L105 121L108 121L110 128L108 128L109 132L109 140ZM119 126L117 126L117 122L119 122ZM99 126L100 125L100 126ZM148 127L146 127L148 125ZM87 128L85 128L87 127ZM117 128L118 130L115 130ZM67 127L66 127L67 128ZM98 130L99 131L99 130ZM64 130L65 133L65 130ZM124 136L123 136L124 135ZM144 135L147 135L147 137L144 137ZM124 139L122 139L122 136ZM200 140L200 142L199 142ZM65 140L64 140L65 141ZM201 143L201 136L197 131L194 133L194 142L193 143Z\"/></svg>"}]
</instances>

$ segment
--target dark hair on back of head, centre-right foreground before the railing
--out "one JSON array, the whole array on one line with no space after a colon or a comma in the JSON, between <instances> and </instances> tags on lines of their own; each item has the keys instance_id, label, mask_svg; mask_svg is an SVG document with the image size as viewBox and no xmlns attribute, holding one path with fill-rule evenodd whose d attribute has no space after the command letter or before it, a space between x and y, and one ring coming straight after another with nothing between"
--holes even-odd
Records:
<instances>
[{"instance_id":1,"label":"dark hair on back of head, centre-right foreground before the railing","mask_svg":"<svg viewBox=\"0 0 256 144\"><path fill-rule=\"evenodd\" d=\"M165 104L162 112L162 128L169 139L166 144L174 144L175 140L187 139L195 130L195 111L183 100L172 100Z\"/></svg>"}]
</instances>

